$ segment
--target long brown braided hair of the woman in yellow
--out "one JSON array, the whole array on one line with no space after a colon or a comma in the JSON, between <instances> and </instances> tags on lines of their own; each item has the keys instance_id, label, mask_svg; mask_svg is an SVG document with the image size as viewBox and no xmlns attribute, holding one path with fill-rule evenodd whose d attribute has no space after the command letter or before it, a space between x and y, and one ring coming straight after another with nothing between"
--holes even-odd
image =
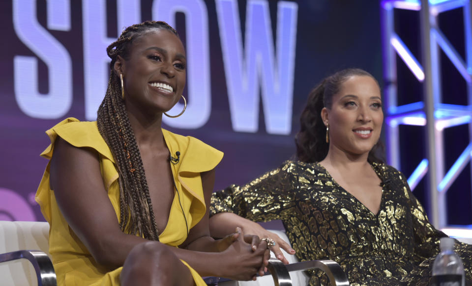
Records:
<instances>
[{"instance_id":1,"label":"long brown braided hair of the woman in yellow","mask_svg":"<svg viewBox=\"0 0 472 286\"><path fill-rule=\"evenodd\" d=\"M146 21L123 30L118 40L107 48L110 78L103 102L97 112L98 130L111 149L118 167L119 226L124 233L139 234L144 238L159 240L149 195L148 183L138 144L129 123L124 100L121 96L120 78L114 72L118 55L129 58L134 40L151 29L176 30L165 22ZM177 35L178 36L178 35Z\"/></svg>"}]
</instances>

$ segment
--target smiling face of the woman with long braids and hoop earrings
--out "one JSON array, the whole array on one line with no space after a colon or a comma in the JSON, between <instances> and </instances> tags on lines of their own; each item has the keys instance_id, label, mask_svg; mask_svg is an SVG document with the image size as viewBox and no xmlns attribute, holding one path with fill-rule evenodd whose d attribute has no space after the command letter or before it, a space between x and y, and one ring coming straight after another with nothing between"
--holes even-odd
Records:
<instances>
[{"instance_id":1,"label":"smiling face of the woman with long braids and hoop earrings","mask_svg":"<svg viewBox=\"0 0 472 286\"><path fill-rule=\"evenodd\" d=\"M171 31L153 28L135 39L126 59L115 63L124 81L128 110L166 112L180 99L186 78L186 57L180 39Z\"/></svg>"}]
</instances>

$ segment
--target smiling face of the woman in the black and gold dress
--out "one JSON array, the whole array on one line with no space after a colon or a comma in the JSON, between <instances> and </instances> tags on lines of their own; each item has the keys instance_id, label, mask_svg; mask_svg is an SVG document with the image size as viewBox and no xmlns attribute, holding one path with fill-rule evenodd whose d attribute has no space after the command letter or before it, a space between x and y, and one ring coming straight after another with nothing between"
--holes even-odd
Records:
<instances>
[{"instance_id":1,"label":"smiling face of the woman in the black and gold dress","mask_svg":"<svg viewBox=\"0 0 472 286\"><path fill-rule=\"evenodd\" d=\"M377 82L368 76L352 76L333 95L331 108L322 110L329 125L329 150L368 155L380 138L382 99Z\"/></svg>"}]
</instances>

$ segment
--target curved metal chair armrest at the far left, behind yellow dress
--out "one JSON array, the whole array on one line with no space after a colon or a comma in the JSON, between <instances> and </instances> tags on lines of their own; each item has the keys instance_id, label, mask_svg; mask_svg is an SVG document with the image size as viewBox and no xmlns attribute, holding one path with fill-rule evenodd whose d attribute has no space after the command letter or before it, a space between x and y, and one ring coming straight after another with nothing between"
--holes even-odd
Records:
<instances>
[{"instance_id":1,"label":"curved metal chair armrest at the far left, behind yellow dress","mask_svg":"<svg viewBox=\"0 0 472 286\"><path fill-rule=\"evenodd\" d=\"M46 253L38 250L19 250L0 254L0 263L19 259L27 259L33 264L38 286L57 286L56 272Z\"/></svg>"}]
</instances>

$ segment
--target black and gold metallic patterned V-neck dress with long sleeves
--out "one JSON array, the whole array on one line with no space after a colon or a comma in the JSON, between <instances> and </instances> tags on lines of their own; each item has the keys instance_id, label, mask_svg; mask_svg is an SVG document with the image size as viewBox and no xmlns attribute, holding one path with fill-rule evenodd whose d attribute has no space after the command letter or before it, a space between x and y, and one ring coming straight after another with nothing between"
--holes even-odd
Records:
<instances>
[{"instance_id":1,"label":"black and gold metallic patterned V-neck dress with long sleeves","mask_svg":"<svg viewBox=\"0 0 472 286\"><path fill-rule=\"evenodd\" d=\"M380 210L372 213L338 185L318 163L286 161L244 186L211 197L210 215L233 212L253 221L282 220L299 260L338 262L352 286L427 286L446 236L428 221L404 175L373 163L382 180ZM456 243L471 281L472 245ZM310 270L309 285L328 285Z\"/></svg>"}]
</instances>

